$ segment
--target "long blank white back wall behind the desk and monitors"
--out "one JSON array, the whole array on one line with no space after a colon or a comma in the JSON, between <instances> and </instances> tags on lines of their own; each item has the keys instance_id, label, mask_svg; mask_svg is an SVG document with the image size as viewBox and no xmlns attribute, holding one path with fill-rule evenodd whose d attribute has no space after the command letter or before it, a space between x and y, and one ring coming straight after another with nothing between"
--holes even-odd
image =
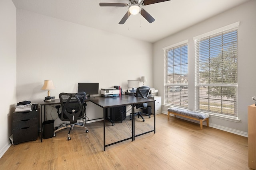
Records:
<instances>
[{"instance_id":1,"label":"long blank white back wall behind the desk and monitors","mask_svg":"<svg viewBox=\"0 0 256 170\"><path fill-rule=\"evenodd\" d=\"M18 102L42 102L47 91L40 89L48 79L56 86L51 96L58 98L61 92L77 92L78 82L125 90L127 80L146 76L145 85L151 86L152 74L152 43L17 10ZM100 107L89 103L87 108L90 119L103 116ZM47 110L56 115L52 107Z\"/></svg>"}]
</instances>

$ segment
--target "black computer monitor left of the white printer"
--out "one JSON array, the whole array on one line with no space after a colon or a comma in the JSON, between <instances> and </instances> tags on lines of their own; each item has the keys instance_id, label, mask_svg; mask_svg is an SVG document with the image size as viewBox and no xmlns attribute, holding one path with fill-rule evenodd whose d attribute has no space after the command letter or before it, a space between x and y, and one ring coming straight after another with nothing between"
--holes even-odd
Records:
<instances>
[{"instance_id":1,"label":"black computer monitor left of the white printer","mask_svg":"<svg viewBox=\"0 0 256 170\"><path fill-rule=\"evenodd\" d=\"M99 83L78 83L78 92L86 92L87 95L99 94Z\"/></svg>"}]
</instances>

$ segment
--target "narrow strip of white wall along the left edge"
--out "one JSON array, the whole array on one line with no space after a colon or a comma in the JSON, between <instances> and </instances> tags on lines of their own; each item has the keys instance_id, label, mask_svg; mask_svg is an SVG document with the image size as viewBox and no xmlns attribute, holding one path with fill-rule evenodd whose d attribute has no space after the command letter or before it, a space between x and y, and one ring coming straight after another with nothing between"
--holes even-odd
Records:
<instances>
[{"instance_id":1,"label":"narrow strip of white wall along the left edge","mask_svg":"<svg viewBox=\"0 0 256 170\"><path fill-rule=\"evenodd\" d=\"M0 158L10 146L12 112L16 105L16 8L0 1Z\"/></svg>"}]
</instances>

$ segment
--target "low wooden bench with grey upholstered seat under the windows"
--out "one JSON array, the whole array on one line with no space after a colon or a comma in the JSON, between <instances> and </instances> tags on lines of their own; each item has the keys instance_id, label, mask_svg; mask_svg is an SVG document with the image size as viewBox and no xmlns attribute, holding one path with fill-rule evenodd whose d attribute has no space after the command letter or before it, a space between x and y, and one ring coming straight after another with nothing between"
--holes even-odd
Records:
<instances>
[{"instance_id":1,"label":"low wooden bench with grey upholstered seat under the windows","mask_svg":"<svg viewBox=\"0 0 256 170\"><path fill-rule=\"evenodd\" d=\"M189 119L200 121L200 128L203 129L203 121L206 120L207 126L209 126L209 117L210 115L207 113L202 113L199 111L192 111L188 109L182 109L179 107L169 107L168 108L168 119L170 118L170 113L174 114L174 117L176 115L186 117Z\"/></svg>"}]
</instances>

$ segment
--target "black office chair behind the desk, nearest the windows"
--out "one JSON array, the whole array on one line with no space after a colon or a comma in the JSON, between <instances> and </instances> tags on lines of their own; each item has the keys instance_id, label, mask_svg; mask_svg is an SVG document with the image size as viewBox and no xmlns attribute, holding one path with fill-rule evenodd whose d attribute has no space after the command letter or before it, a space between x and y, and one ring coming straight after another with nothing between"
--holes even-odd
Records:
<instances>
[{"instance_id":1,"label":"black office chair behind the desk, nearest the windows","mask_svg":"<svg viewBox=\"0 0 256 170\"><path fill-rule=\"evenodd\" d=\"M142 97L142 98L148 98L148 95L149 95L149 91L150 91L150 87L149 86L141 86L141 87L138 87L137 90L136 90L136 97ZM142 118L142 121L145 121L144 120L144 117L142 115L146 115L148 116L148 118L150 118L150 115L147 114L147 113L143 113L143 109L146 109L148 107L148 103L143 103L143 104L136 104L135 107L138 110L137 113L134 113L134 116L138 115L138 118L141 117ZM142 110L142 111L140 111ZM132 114L130 114L130 120L132 120Z\"/></svg>"}]
</instances>

